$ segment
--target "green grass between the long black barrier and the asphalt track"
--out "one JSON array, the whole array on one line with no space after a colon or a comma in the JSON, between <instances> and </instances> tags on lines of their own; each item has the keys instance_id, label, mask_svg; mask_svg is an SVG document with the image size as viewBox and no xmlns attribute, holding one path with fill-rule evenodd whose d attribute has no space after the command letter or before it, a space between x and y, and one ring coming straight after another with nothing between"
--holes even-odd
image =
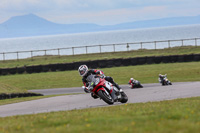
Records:
<instances>
[{"instance_id":1,"label":"green grass between the long black barrier and the asphalt track","mask_svg":"<svg viewBox=\"0 0 200 133\"><path fill-rule=\"evenodd\" d=\"M159 73L168 74L172 83L200 81L200 62L113 67L101 70L105 75L112 76L119 84L127 84L130 77L138 79L141 83L158 83ZM82 86L78 71L7 75L0 76L0 82L23 90Z\"/></svg>"}]
</instances>

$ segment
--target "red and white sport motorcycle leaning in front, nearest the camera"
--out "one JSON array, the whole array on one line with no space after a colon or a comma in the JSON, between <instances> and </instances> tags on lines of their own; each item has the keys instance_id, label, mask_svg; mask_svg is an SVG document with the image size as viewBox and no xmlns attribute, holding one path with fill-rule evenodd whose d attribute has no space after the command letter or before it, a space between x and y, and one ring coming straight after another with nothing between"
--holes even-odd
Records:
<instances>
[{"instance_id":1,"label":"red and white sport motorcycle leaning in front, nearest the camera","mask_svg":"<svg viewBox=\"0 0 200 133\"><path fill-rule=\"evenodd\" d=\"M107 104L114 104L114 102L126 103L128 101L128 97L123 91L120 92L104 78L97 75L89 75L86 80L89 83L88 90L103 99Z\"/></svg>"}]
</instances>

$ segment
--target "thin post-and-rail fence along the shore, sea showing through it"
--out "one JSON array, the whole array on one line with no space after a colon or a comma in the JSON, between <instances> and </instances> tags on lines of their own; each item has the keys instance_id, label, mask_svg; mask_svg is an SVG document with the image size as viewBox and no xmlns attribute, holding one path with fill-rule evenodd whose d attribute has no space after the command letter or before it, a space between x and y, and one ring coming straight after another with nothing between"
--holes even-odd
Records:
<instances>
[{"instance_id":1,"label":"thin post-and-rail fence along the shore, sea showing through it","mask_svg":"<svg viewBox=\"0 0 200 133\"><path fill-rule=\"evenodd\" d=\"M80 47L68 47L58 49L45 49L33 51L16 51L0 53L0 60L11 59L24 59L33 58L36 56L61 56L61 55L77 55L89 53L104 53L104 52L119 52L130 51L138 49L163 49L179 46L198 46L200 38L180 39L180 40L164 40L152 42L134 42L134 43L121 43L121 44L104 44L104 45L91 45Z\"/></svg>"}]
</instances>

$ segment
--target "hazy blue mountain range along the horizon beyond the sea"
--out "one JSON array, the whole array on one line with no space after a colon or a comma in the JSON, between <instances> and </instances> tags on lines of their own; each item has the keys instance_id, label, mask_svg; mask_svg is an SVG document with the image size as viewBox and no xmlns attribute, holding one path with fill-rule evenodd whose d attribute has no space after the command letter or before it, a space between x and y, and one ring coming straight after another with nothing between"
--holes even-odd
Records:
<instances>
[{"instance_id":1,"label":"hazy blue mountain range along the horizon beyond the sea","mask_svg":"<svg viewBox=\"0 0 200 133\"><path fill-rule=\"evenodd\" d=\"M34 14L12 17L0 24L0 38L54 35L80 32L123 30L136 28L166 27L176 25L200 24L199 16L163 18L136 21L117 25L100 26L89 23L57 24Z\"/></svg>"}]
</instances>

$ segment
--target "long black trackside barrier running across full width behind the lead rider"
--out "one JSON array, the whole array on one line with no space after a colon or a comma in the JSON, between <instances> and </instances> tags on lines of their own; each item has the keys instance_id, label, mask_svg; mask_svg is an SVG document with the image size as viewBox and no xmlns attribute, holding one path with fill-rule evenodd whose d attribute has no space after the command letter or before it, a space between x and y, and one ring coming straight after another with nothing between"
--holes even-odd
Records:
<instances>
[{"instance_id":1,"label":"long black trackside barrier running across full width behind the lead rider","mask_svg":"<svg viewBox=\"0 0 200 133\"><path fill-rule=\"evenodd\" d=\"M24 66L24 67L15 67L15 68L0 68L0 75L23 74L23 73L31 74L31 73L40 73L40 72L77 70L78 67L82 64L86 64L90 68L109 68L109 67L118 67L118 66L191 62L191 61L200 61L200 54L119 58L119 59L110 59L110 60L105 59L105 60L82 61L82 62L74 62L74 63Z\"/></svg>"}]
</instances>

